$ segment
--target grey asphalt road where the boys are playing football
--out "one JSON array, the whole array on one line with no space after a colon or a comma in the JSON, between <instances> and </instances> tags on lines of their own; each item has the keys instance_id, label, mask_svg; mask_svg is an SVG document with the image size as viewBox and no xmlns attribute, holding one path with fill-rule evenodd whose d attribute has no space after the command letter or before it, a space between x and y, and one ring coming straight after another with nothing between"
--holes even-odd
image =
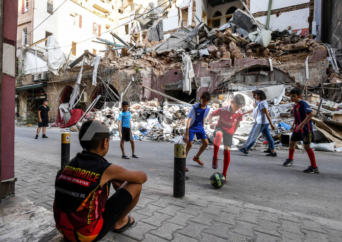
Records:
<instances>
[{"instance_id":1,"label":"grey asphalt road where the boys are playing football","mask_svg":"<svg viewBox=\"0 0 342 242\"><path fill-rule=\"evenodd\" d=\"M34 139L36 128L15 128L15 157L45 162L46 166L60 165L61 130L47 129L47 139ZM126 143L126 154L131 154ZM81 152L78 133L71 132L70 157ZM173 186L174 144L171 142L136 141L139 159L121 159L119 141L111 140L106 159L131 170L141 170L148 175L150 186ZM342 153L315 152L320 174L304 174L310 165L305 151L296 151L295 164L284 167L287 151L278 151L278 157L265 157L262 151L250 152L249 156L231 152L227 184L214 189L209 177L222 172L223 152L218 153L218 169L211 167L212 149L201 156L204 167L192 161L197 148L190 151L186 173L186 190L205 195L232 199L244 203L271 207L284 211L324 217L342 221Z\"/></svg>"}]
</instances>

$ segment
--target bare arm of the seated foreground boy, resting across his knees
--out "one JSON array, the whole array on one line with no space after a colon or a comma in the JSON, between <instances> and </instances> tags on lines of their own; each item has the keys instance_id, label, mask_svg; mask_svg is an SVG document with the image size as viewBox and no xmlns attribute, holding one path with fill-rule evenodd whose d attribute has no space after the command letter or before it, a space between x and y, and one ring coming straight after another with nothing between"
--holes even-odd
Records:
<instances>
[{"instance_id":1,"label":"bare arm of the seated foreground boy, resting across his knees","mask_svg":"<svg viewBox=\"0 0 342 242\"><path fill-rule=\"evenodd\" d=\"M117 183L132 182L143 184L147 181L147 175L141 171L127 170L119 165L111 164L101 178L101 186L115 180Z\"/></svg>"}]
</instances>

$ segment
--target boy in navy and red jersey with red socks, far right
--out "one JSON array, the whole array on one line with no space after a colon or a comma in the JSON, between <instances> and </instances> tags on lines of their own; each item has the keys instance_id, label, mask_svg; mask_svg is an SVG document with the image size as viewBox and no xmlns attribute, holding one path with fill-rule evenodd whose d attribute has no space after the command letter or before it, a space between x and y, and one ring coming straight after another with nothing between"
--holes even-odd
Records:
<instances>
[{"instance_id":1,"label":"boy in navy and red jersey with red socks, far right","mask_svg":"<svg viewBox=\"0 0 342 242\"><path fill-rule=\"evenodd\" d=\"M290 138L289 149L288 149L288 159L284 162L284 166L289 166L294 163L294 153L296 149L297 141L303 141L304 149L309 156L311 165L304 170L304 173L320 173L316 165L316 160L314 157L313 150L310 147L310 143L314 141L312 133L312 123L311 118L313 117L313 112L309 105L301 100L302 91L299 88L292 89L290 91L291 102L295 102L294 105L294 116L295 120L292 124L291 131L292 136Z\"/></svg>"}]
</instances>

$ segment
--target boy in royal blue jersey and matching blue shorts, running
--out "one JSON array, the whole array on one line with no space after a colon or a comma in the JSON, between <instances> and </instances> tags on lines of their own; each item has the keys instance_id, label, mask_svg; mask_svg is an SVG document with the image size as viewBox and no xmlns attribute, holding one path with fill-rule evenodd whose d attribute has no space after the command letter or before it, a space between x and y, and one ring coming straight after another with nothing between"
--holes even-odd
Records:
<instances>
[{"instance_id":1,"label":"boy in royal blue jersey and matching blue shorts, running","mask_svg":"<svg viewBox=\"0 0 342 242\"><path fill-rule=\"evenodd\" d=\"M188 114L188 120L186 122L186 133L184 136L184 142L186 143L186 156L188 155L192 147L193 137L196 134L196 138L201 139L202 146L200 147L200 150L198 151L197 155L194 156L192 160L196 161L200 165L204 165L204 163L201 161L200 156L209 144L208 137L204 131L203 126L205 118L207 117L210 111L210 108L208 108L208 103L210 99L211 96L208 91L202 92L201 102L193 105ZM185 171L188 172L189 169L186 167Z\"/></svg>"}]
</instances>

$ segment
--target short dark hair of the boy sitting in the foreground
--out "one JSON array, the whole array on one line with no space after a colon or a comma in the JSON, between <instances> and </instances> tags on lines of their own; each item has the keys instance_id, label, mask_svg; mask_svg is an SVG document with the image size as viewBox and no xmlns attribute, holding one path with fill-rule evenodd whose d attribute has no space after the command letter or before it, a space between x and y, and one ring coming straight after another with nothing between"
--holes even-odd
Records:
<instances>
[{"instance_id":1,"label":"short dark hair of the boy sitting in the foreground","mask_svg":"<svg viewBox=\"0 0 342 242\"><path fill-rule=\"evenodd\" d=\"M99 120L89 119L80 129L79 140L82 148L91 151L100 146L104 139L109 139L109 128Z\"/></svg>"}]
</instances>

